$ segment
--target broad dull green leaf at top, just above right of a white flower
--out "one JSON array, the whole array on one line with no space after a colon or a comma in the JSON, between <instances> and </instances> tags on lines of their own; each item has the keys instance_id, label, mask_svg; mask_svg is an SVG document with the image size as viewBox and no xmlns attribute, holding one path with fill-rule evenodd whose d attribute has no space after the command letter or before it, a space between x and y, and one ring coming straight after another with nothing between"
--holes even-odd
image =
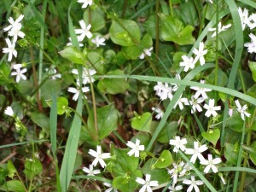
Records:
<instances>
[{"instance_id":1,"label":"broad dull green leaf at top, just above right of a white flower","mask_svg":"<svg viewBox=\"0 0 256 192\"><path fill-rule=\"evenodd\" d=\"M100 7L96 7L93 10L85 9L84 22L86 25L91 25L90 32L100 31L106 25L104 13Z\"/></svg>"}]
</instances>

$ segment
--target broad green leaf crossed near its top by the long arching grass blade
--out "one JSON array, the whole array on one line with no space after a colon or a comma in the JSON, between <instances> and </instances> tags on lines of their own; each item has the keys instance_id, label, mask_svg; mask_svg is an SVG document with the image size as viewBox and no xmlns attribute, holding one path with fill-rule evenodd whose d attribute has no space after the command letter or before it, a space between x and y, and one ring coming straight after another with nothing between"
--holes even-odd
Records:
<instances>
[{"instance_id":1,"label":"broad green leaf crossed near its top by the long arching grass blade","mask_svg":"<svg viewBox=\"0 0 256 192\"><path fill-rule=\"evenodd\" d=\"M112 72L108 72L108 75L124 75L124 72L117 69ZM128 88L128 84L125 82L125 79L101 79L97 84L99 90L102 93L109 93L109 94L118 94L118 93L125 93Z\"/></svg>"}]
</instances>

